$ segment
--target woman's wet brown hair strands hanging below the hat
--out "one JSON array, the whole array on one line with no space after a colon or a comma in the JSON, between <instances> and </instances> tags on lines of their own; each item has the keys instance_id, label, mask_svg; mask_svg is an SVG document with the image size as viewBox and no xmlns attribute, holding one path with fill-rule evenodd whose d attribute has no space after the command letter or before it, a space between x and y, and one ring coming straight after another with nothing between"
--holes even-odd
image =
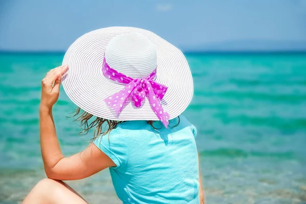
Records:
<instances>
[{"instance_id":1,"label":"woman's wet brown hair strands hanging below the hat","mask_svg":"<svg viewBox=\"0 0 306 204\"><path fill-rule=\"evenodd\" d=\"M75 116L78 116L78 117L75 118L73 121L74 122L80 121L80 127L82 129L82 131L79 134L86 135L89 132L90 129L95 127L92 141L95 140L100 135L103 136L103 135L106 135L106 134L110 133L112 130L114 130L116 128L116 126L118 124L120 124L122 122L125 122L125 121L109 120L109 119L105 119L105 118L96 117L96 116L82 110L80 107L78 107L74 111L74 113L71 117L75 117ZM172 127L175 127L175 126L179 125L180 116L177 116L177 117L179 118L179 121L177 122L177 124L175 124ZM88 120L90 120L91 118L93 119L93 121L88 123ZM162 128L162 126L159 127L159 128L155 127L153 122L154 122L153 120L147 120L147 123L150 124L155 130L158 130L158 129ZM107 125L108 128L103 129L103 125Z\"/></svg>"}]
</instances>

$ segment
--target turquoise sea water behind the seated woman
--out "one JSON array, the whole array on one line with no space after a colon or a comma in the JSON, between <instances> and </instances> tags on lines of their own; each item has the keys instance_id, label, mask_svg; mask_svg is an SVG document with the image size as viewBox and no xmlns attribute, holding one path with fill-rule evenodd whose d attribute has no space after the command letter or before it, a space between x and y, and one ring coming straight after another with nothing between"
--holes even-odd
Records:
<instances>
[{"instance_id":1,"label":"turquoise sea water behind the seated woman","mask_svg":"<svg viewBox=\"0 0 306 204\"><path fill-rule=\"evenodd\" d=\"M306 54L186 54L207 203L306 203ZM18 203L44 177L41 79L63 54L0 54L0 203ZM62 150L86 147L61 90L54 119ZM108 170L69 182L91 203L120 203Z\"/></svg>"}]
</instances>

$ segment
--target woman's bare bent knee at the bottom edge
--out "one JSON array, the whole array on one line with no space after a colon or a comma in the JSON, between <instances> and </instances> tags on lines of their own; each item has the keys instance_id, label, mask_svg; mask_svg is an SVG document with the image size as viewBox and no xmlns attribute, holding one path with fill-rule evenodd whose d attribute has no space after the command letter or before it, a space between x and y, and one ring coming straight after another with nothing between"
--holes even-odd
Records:
<instances>
[{"instance_id":1,"label":"woman's bare bent knee at the bottom edge","mask_svg":"<svg viewBox=\"0 0 306 204\"><path fill-rule=\"evenodd\" d=\"M87 203L76 191L62 181L43 179L25 197L22 204L84 204Z\"/></svg>"}]
</instances>

